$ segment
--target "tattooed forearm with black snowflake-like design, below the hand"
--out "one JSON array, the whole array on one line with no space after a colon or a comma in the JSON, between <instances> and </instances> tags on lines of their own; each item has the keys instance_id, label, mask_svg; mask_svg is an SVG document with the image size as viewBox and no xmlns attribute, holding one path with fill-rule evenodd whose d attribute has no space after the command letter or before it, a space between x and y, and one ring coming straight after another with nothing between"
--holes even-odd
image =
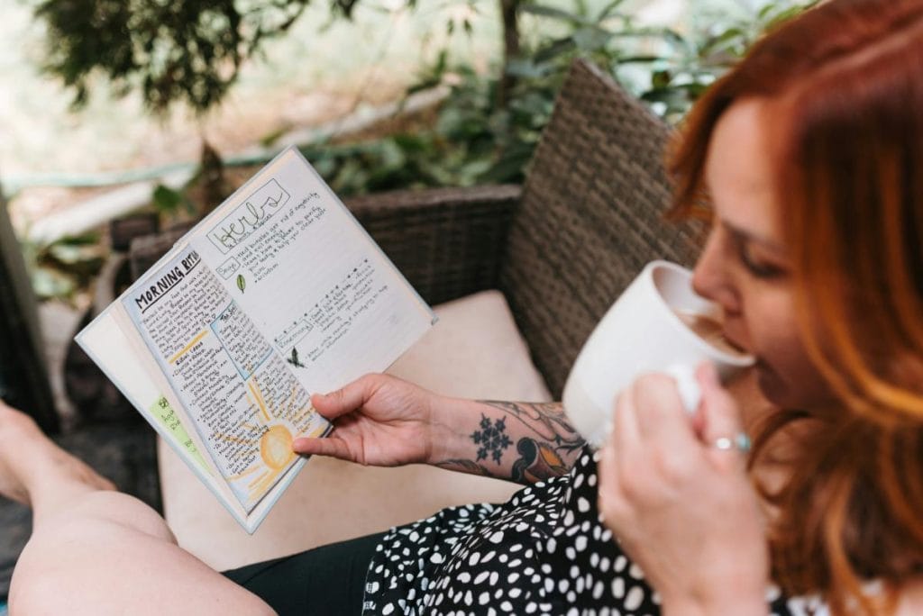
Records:
<instances>
[{"instance_id":1,"label":"tattooed forearm with black snowflake-like design, below the hand","mask_svg":"<svg viewBox=\"0 0 923 616\"><path fill-rule=\"evenodd\" d=\"M453 457L437 466L529 484L566 474L581 451L583 439L559 403L479 404L485 406L469 433L472 457Z\"/></svg>"}]
</instances>

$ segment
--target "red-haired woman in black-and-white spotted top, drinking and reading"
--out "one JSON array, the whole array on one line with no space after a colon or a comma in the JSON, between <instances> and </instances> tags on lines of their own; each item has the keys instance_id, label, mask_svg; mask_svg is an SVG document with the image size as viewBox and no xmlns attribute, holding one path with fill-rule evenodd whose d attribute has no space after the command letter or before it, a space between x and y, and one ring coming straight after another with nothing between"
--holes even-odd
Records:
<instances>
[{"instance_id":1,"label":"red-haired woman in black-and-white spotted top, drinking and reading","mask_svg":"<svg viewBox=\"0 0 923 616\"><path fill-rule=\"evenodd\" d=\"M664 376L623 392L598 476L559 406L366 376L314 398L337 430L296 451L537 482L222 576L0 409L0 492L35 507L13 610L270 611L231 579L294 610L267 582L305 563L283 589L334 570L299 600L369 613L923 613L921 110L923 0L833 0L761 41L679 138L677 213L713 217L695 286L785 409L753 428L749 468L725 444L752 418L708 366L693 421Z\"/></svg>"}]
</instances>

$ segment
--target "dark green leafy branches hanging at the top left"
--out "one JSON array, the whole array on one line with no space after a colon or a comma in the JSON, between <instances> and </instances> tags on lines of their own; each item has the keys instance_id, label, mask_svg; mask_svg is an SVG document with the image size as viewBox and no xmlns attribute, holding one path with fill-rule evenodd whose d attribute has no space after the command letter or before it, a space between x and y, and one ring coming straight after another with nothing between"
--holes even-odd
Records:
<instances>
[{"instance_id":1,"label":"dark green leafy branches hanging at the top left","mask_svg":"<svg viewBox=\"0 0 923 616\"><path fill-rule=\"evenodd\" d=\"M204 112L222 100L242 62L288 30L308 0L40 0L45 68L87 101L102 73L116 94L140 88L154 112L185 101ZM331 0L349 17L355 0Z\"/></svg>"}]
</instances>

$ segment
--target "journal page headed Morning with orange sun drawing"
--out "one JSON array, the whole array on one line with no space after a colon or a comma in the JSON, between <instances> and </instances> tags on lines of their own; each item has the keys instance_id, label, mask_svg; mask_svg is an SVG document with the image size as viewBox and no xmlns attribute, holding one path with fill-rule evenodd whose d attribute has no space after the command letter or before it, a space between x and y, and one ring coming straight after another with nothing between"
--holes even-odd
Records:
<instances>
[{"instance_id":1,"label":"journal page headed Morning with orange sun drawing","mask_svg":"<svg viewBox=\"0 0 923 616\"><path fill-rule=\"evenodd\" d=\"M216 274L186 246L122 297L126 313L249 513L329 423Z\"/></svg>"}]
</instances>

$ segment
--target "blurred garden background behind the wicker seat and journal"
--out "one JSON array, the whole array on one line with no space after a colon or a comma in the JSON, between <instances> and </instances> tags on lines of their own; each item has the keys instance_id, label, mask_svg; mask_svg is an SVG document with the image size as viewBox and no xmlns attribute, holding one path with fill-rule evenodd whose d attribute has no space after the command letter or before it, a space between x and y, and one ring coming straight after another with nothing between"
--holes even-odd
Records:
<instances>
[{"instance_id":1,"label":"blurred garden background behind the wicker seat and journal","mask_svg":"<svg viewBox=\"0 0 923 616\"><path fill-rule=\"evenodd\" d=\"M670 124L808 0L0 0L0 396L159 506L72 338L146 232L296 145L341 196L520 183L571 60ZM0 598L29 533L0 503ZM2 600L0 600L2 605Z\"/></svg>"}]
</instances>

